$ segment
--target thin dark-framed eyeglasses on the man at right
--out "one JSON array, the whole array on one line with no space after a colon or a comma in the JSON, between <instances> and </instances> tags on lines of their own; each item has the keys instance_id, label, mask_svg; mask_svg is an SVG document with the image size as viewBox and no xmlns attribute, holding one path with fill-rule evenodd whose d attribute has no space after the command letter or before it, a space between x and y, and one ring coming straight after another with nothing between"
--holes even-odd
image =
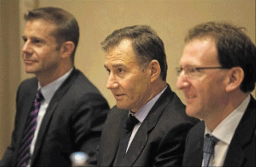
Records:
<instances>
[{"instance_id":1,"label":"thin dark-framed eyeglasses on the man at right","mask_svg":"<svg viewBox=\"0 0 256 167\"><path fill-rule=\"evenodd\" d=\"M186 66L184 68L177 67L177 75L179 76L180 73L184 70L185 74L190 77L190 78L196 78L201 76L202 72L201 70L204 69L229 69L229 68L224 68L221 66L212 66L212 67L195 67L195 66Z\"/></svg>"}]
</instances>

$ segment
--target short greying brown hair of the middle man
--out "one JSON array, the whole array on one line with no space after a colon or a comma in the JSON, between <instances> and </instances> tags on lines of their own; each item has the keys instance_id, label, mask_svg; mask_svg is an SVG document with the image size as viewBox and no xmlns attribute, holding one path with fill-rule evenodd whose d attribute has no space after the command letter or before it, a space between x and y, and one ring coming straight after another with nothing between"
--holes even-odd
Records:
<instances>
[{"instance_id":1,"label":"short greying brown hair of the middle man","mask_svg":"<svg viewBox=\"0 0 256 167\"><path fill-rule=\"evenodd\" d=\"M166 81L168 66L164 44L153 29L146 25L134 25L115 30L101 42L102 49L107 51L123 39L132 41L133 51L143 67L152 60L157 60L161 66L161 78Z\"/></svg>"}]
</instances>

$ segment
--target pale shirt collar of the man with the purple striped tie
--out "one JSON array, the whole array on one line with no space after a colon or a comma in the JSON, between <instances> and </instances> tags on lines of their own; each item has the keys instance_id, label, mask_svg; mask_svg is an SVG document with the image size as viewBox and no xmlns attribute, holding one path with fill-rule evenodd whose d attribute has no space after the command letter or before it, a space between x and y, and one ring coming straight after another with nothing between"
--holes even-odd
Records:
<instances>
[{"instance_id":1,"label":"pale shirt collar of the man with the purple striped tie","mask_svg":"<svg viewBox=\"0 0 256 167\"><path fill-rule=\"evenodd\" d=\"M38 89L41 89L45 102L48 103L51 100L56 90L67 79L67 77L71 74L72 70L73 68L71 68L67 73L65 73L60 78L54 80L53 82L47 84L44 87L41 87L40 83L38 82Z\"/></svg>"}]
</instances>

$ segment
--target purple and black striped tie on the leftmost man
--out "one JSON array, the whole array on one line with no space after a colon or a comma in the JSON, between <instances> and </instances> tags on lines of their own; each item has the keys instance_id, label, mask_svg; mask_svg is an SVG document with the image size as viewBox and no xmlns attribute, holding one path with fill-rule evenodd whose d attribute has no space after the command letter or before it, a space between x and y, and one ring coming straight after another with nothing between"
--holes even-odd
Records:
<instances>
[{"instance_id":1,"label":"purple and black striped tie on the leftmost man","mask_svg":"<svg viewBox=\"0 0 256 167\"><path fill-rule=\"evenodd\" d=\"M37 116L40 109L40 101L43 99L41 89L36 93L34 109L30 112L26 121L25 131L19 148L17 166L26 166L30 158L30 146L34 138L34 131L37 125Z\"/></svg>"}]
</instances>

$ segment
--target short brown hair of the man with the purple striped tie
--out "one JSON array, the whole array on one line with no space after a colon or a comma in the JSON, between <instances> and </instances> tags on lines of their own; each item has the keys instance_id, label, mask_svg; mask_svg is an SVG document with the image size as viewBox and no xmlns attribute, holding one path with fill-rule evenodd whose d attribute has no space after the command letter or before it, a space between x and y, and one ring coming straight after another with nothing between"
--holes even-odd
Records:
<instances>
[{"instance_id":1,"label":"short brown hair of the man with the purple striped tie","mask_svg":"<svg viewBox=\"0 0 256 167\"><path fill-rule=\"evenodd\" d=\"M79 41L79 26L75 17L69 12L56 7L43 7L29 11L24 15L26 21L32 21L36 19L44 19L51 21L57 28L53 32L53 36L58 44L57 49L65 41L74 42L75 48L71 55L72 62L74 62L74 54Z\"/></svg>"}]
</instances>

